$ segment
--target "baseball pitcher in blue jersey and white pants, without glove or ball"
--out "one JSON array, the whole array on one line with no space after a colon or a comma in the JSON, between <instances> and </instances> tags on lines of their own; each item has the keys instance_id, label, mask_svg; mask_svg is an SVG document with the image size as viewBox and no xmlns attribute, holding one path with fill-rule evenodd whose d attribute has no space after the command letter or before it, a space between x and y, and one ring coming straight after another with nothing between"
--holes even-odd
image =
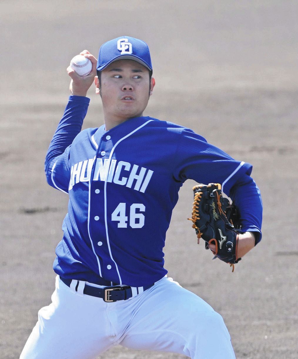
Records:
<instances>
[{"instance_id":1,"label":"baseball pitcher in blue jersey and white pants, without glove or ball","mask_svg":"<svg viewBox=\"0 0 298 359\"><path fill-rule=\"evenodd\" d=\"M71 96L45 162L49 185L69 196L56 289L20 358L96 358L117 344L235 358L222 317L167 277L162 250L188 178L221 183L241 214L238 257L254 247L262 204L252 166L188 128L143 116L155 86L145 42L123 36L104 43L98 60L81 54L93 68L80 77L68 67ZM104 125L81 131L93 81Z\"/></svg>"}]
</instances>

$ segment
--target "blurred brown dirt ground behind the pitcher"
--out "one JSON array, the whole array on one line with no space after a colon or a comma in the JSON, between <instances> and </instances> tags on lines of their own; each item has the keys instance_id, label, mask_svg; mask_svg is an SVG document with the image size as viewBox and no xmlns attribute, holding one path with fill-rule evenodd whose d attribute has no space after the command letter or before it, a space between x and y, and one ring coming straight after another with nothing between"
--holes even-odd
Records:
<instances>
[{"instance_id":1,"label":"blurred brown dirt ground behind the pitcher","mask_svg":"<svg viewBox=\"0 0 298 359\"><path fill-rule=\"evenodd\" d=\"M297 1L5 1L0 3L0 358L18 358L50 303L67 196L43 161L68 98L70 59L114 37L150 46L145 115L193 128L254 165L263 239L236 266L211 261L190 222L185 183L167 234L169 275L221 313L239 359L294 359L297 346ZM85 127L103 123L90 90ZM106 358L185 358L117 346Z\"/></svg>"}]
</instances>

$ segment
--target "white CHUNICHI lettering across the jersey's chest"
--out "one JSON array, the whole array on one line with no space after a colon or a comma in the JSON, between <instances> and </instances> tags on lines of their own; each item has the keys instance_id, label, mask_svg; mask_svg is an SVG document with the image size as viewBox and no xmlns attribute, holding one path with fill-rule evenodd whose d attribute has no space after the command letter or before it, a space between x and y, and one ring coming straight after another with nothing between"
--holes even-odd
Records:
<instances>
[{"instance_id":1,"label":"white CHUNICHI lettering across the jersey's chest","mask_svg":"<svg viewBox=\"0 0 298 359\"><path fill-rule=\"evenodd\" d=\"M89 182L94 168L93 181L113 182L117 185L133 188L139 192L145 192L154 171L141 167L137 164L131 164L116 159L89 158L80 161L71 166L70 182L68 190L70 191L76 183Z\"/></svg>"}]
</instances>

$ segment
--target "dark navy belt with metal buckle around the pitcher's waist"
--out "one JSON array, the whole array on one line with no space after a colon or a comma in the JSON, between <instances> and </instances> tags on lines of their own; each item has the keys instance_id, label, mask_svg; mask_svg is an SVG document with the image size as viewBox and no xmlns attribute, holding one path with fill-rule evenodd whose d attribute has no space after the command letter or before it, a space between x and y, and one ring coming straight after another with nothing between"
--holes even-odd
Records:
<instances>
[{"instance_id":1,"label":"dark navy belt with metal buckle around the pitcher's waist","mask_svg":"<svg viewBox=\"0 0 298 359\"><path fill-rule=\"evenodd\" d=\"M70 287L72 279L65 279L62 277L60 277L60 279L64 284ZM77 285L75 288L76 290L78 285L79 285L79 281L77 281ZM145 291L146 289L152 287L153 285L154 283L144 286L142 288ZM114 285L110 287L98 288L85 284L83 293L87 295L92 295L92 297L103 298L104 302L117 302L117 300L126 300L132 297L132 289L128 285L125 286Z\"/></svg>"}]
</instances>

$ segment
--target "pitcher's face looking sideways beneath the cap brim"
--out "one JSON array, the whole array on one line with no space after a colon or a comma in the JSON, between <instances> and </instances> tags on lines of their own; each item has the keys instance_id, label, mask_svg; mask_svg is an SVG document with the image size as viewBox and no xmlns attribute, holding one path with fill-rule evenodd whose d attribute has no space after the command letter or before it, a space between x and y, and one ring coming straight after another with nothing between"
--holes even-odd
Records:
<instances>
[{"instance_id":1,"label":"pitcher's face looking sideways beneath the cap brim","mask_svg":"<svg viewBox=\"0 0 298 359\"><path fill-rule=\"evenodd\" d=\"M148 69L133 60L118 60L101 71L96 92L103 102L105 121L123 122L142 116L152 94L155 80Z\"/></svg>"}]
</instances>

